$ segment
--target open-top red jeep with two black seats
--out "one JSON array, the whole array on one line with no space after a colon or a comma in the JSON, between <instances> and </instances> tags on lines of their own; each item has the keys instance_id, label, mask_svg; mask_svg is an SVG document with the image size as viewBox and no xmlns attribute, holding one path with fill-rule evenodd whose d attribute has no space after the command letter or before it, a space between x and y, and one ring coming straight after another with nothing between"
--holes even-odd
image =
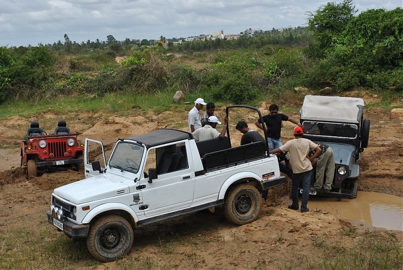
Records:
<instances>
[{"instance_id":1,"label":"open-top red jeep with two black seats","mask_svg":"<svg viewBox=\"0 0 403 270\"><path fill-rule=\"evenodd\" d=\"M23 173L30 177L49 171L84 170L84 143L77 140L80 134L71 133L65 121L60 120L54 134L47 135L33 121L26 140L20 142Z\"/></svg>"}]
</instances>

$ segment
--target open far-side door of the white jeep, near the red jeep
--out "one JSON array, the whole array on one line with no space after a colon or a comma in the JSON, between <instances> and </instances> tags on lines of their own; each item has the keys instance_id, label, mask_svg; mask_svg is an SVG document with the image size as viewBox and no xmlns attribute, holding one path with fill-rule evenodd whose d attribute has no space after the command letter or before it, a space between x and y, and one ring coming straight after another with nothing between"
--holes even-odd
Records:
<instances>
[{"instance_id":1,"label":"open far-side door of the white jeep, near the red jeep","mask_svg":"<svg viewBox=\"0 0 403 270\"><path fill-rule=\"evenodd\" d=\"M93 170L92 162L99 161L101 165L101 170ZM92 177L102 174L106 168L106 158L104 145L100 141L85 139L84 145L84 166L85 166L85 177Z\"/></svg>"}]
</instances>

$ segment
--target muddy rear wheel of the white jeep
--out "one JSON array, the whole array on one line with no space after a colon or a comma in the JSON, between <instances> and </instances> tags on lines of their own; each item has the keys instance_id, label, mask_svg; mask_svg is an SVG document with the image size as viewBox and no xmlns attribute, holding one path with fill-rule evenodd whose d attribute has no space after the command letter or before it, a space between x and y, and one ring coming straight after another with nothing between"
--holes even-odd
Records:
<instances>
[{"instance_id":1,"label":"muddy rear wheel of the white jeep","mask_svg":"<svg viewBox=\"0 0 403 270\"><path fill-rule=\"evenodd\" d=\"M252 185L235 186L225 196L225 217L236 225L253 222L260 212L260 197L260 193Z\"/></svg>"}]
</instances>

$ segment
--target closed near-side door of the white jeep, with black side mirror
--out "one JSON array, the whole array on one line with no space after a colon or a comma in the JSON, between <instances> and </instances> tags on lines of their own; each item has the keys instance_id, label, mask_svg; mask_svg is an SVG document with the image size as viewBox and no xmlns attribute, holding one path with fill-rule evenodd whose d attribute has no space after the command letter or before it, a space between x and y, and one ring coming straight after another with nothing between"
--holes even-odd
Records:
<instances>
[{"instance_id":1,"label":"closed near-side door of the white jeep, with black side mirror","mask_svg":"<svg viewBox=\"0 0 403 270\"><path fill-rule=\"evenodd\" d=\"M187 143L188 142L185 141L178 144L171 144L172 147L178 149L176 150L176 154L179 156L178 163L172 171L161 172L158 174L158 178L152 179L152 181L148 176L141 179L140 185L144 187L142 188L144 201L142 207L146 217L181 210L192 204L195 185L193 165L189 162L189 160L191 160L189 158L190 151L182 153ZM182 152L179 149L182 149ZM161 162L161 157L160 160L157 160L157 154L161 152L161 150L162 149L159 148L151 148L148 150L144 167L146 173L149 168L158 169L158 163ZM172 159L171 156L169 156L169 158ZM174 155L174 158L176 159L176 155Z\"/></svg>"}]
</instances>

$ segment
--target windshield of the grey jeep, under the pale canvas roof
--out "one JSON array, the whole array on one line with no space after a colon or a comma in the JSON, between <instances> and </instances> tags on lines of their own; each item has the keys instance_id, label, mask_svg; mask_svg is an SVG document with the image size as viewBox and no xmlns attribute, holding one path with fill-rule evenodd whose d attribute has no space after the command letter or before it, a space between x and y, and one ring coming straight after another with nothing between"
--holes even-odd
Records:
<instances>
[{"instance_id":1,"label":"windshield of the grey jeep, under the pale canvas roof","mask_svg":"<svg viewBox=\"0 0 403 270\"><path fill-rule=\"evenodd\" d=\"M358 126L355 124L303 121L302 125L304 126L304 133L307 135L350 139L357 137Z\"/></svg>"}]
</instances>

